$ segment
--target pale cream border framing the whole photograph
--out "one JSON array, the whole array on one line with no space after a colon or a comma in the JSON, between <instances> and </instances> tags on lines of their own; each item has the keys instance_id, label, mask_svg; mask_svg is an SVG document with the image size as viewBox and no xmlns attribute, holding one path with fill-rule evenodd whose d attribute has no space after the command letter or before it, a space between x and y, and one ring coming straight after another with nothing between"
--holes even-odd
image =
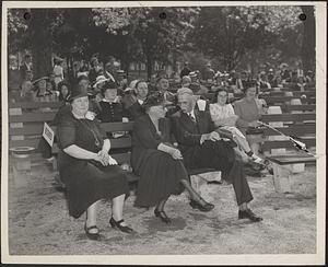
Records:
<instances>
[{"instance_id":1,"label":"pale cream border framing the whole photograph","mask_svg":"<svg viewBox=\"0 0 328 267\"><path fill-rule=\"evenodd\" d=\"M316 20L316 254L254 254L254 255L89 255L89 256L13 256L9 255L8 236L8 35L7 10L10 8L118 8L118 7L199 7L199 5L315 5ZM8 264L110 264L110 265L323 265L326 252L326 2L260 2L260 1L139 1L139 2L72 2L72 1L3 1L1 31L1 100L2 100L2 156L1 156L1 262ZM279 256L279 257L278 257Z\"/></svg>"}]
</instances>

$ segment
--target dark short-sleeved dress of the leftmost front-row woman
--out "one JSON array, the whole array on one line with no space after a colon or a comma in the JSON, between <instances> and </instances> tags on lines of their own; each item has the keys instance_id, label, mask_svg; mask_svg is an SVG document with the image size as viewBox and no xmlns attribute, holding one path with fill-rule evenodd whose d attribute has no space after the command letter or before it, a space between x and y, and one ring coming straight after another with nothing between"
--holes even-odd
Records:
<instances>
[{"instance_id":1,"label":"dark short-sleeved dress of the leftmost front-row woman","mask_svg":"<svg viewBox=\"0 0 328 267\"><path fill-rule=\"evenodd\" d=\"M71 144L98 152L103 147L103 139L107 137L96 120L77 119L72 113L66 113L58 123L57 131L60 148L58 167L67 186L70 216L79 218L99 199L129 194L127 178L119 166L103 166L63 152ZM99 140L98 146L95 136Z\"/></svg>"}]
</instances>

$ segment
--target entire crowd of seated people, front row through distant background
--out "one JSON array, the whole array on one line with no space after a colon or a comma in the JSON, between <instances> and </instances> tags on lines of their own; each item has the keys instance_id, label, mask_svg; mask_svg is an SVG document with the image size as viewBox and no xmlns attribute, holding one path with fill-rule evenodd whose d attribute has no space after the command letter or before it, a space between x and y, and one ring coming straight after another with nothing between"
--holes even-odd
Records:
<instances>
[{"instance_id":1,"label":"entire crowd of seated people, front row through distant background","mask_svg":"<svg viewBox=\"0 0 328 267\"><path fill-rule=\"evenodd\" d=\"M253 194L245 176L245 163L260 166L256 171L265 166L259 147L263 136L257 121L266 113L266 103L257 96L260 91L285 84L304 91L314 82L312 71L295 77L295 71L283 65L251 77L247 71L215 72L208 63L203 76L186 63L178 90L174 90L163 74L151 83L140 79L128 84L114 57L104 65L94 57L90 67L82 60L74 68L68 78L62 60L56 60L52 73L33 80L31 57L26 56L15 101L62 102L51 123L58 128L60 176L70 190L70 214L79 218L86 213L84 230L90 239L99 237L96 206L102 198L113 199L110 225L126 233L133 231L122 219L124 200L129 194L126 176L108 155L109 139L126 132L108 136L99 123L136 121L130 132L131 165L140 176L136 205L155 207L154 214L163 222L172 223L165 202L183 189L189 191L194 209L213 209L188 182L188 170L209 167L221 171L222 179L232 184L239 219L262 220L248 207ZM231 104L231 90L245 96ZM207 100L208 93L214 93L212 103ZM51 156L46 142L42 141L39 149L45 158ZM81 183L75 183L79 178ZM79 199L81 194L87 196L83 201Z\"/></svg>"}]
</instances>

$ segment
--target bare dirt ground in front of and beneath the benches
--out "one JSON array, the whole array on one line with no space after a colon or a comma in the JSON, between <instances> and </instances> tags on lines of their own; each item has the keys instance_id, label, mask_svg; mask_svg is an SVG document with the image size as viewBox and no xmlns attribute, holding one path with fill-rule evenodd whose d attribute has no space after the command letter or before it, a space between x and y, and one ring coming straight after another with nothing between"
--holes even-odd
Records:
<instances>
[{"instance_id":1,"label":"bare dirt ground in front of and beneath the benches","mask_svg":"<svg viewBox=\"0 0 328 267\"><path fill-rule=\"evenodd\" d=\"M186 194L172 197L166 225L153 209L133 207L134 196L125 206L125 220L136 230L125 234L113 230L110 202L98 210L101 241L86 239L84 217L68 216L65 195L54 186L46 165L33 167L26 186L16 186L9 176L9 251L11 255L145 255L145 254L313 254L316 253L315 166L294 174L293 194L274 191L272 175L247 177L255 200L251 209L263 221L237 219L231 185L203 185L203 198L215 208L192 210Z\"/></svg>"}]
</instances>

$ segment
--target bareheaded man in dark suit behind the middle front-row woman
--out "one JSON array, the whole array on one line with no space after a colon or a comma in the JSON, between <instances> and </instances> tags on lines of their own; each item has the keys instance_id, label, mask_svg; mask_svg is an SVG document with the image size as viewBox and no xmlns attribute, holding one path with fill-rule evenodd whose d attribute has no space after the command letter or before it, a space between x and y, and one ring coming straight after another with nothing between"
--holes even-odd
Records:
<instances>
[{"instance_id":1,"label":"bareheaded man in dark suit behind the middle front-row woman","mask_svg":"<svg viewBox=\"0 0 328 267\"><path fill-rule=\"evenodd\" d=\"M126 109L129 120L134 120L144 114L142 104L145 101L148 93L147 82L143 80L137 81L134 94L130 94L129 97L124 100L124 108Z\"/></svg>"}]
</instances>

